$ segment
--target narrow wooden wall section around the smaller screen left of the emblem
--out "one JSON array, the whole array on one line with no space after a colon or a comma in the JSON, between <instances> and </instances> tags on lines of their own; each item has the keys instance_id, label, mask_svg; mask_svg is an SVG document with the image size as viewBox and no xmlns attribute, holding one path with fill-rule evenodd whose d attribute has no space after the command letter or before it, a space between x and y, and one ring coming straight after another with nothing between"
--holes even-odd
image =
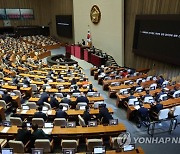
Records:
<instances>
[{"instance_id":1,"label":"narrow wooden wall section around the smaller screen left of the emblem","mask_svg":"<svg viewBox=\"0 0 180 154\"><path fill-rule=\"evenodd\" d=\"M73 39L59 37L56 33L56 15L73 16L73 0L50 0L51 1L51 35L56 36L63 42L74 43ZM74 29L74 27L72 27Z\"/></svg>"}]
</instances>

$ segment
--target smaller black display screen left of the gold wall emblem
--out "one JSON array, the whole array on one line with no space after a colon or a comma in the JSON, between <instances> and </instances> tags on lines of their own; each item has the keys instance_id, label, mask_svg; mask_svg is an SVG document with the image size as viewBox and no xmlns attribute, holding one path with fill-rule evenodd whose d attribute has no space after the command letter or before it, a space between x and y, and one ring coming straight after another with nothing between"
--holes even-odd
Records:
<instances>
[{"instance_id":1,"label":"smaller black display screen left of the gold wall emblem","mask_svg":"<svg viewBox=\"0 0 180 154\"><path fill-rule=\"evenodd\" d=\"M72 15L57 15L56 30L59 36L72 38Z\"/></svg>"}]
</instances>

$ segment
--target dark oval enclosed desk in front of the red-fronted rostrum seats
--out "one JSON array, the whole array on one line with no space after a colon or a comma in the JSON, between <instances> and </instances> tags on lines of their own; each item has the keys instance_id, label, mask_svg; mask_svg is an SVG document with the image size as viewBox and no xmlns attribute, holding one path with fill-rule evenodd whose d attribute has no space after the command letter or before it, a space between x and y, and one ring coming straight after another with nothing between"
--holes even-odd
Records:
<instances>
[{"instance_id":1,"label":"dark oval enclosed desk in front of the red-fronted rostrum seats","mask_svg":"<svg viewBox=\"0 0 180 154\"><path fill-rule=\"evenodd\" d=\"M74 65L74 64L77 64L78 62L73 59L67 58L62 54L59 54L59 55L53 55L53 56L48 57L47 63L49 65L58 65L58 64L59 65Z\"/></svg>"}]
</instances>

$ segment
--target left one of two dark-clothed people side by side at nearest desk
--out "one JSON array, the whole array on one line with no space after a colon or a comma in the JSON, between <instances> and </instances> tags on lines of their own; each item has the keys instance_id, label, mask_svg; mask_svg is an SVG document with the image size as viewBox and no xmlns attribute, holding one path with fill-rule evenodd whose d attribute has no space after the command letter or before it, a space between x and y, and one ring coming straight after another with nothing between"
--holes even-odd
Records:
<instances>
[{"instance_id":1,"label":"left one of two dark-clothed people side by side at nearest desk","mask_svg":"<svg viewBox=\"0 0 180 154\"><path fill-rule=\"evenodd\" d=\"M27 130L26 123L22 123L22 129L18 129L16 135L16 141L22 141L24 145L30 140L31 138L31 131Z\"/></svg>"}]
</instances>

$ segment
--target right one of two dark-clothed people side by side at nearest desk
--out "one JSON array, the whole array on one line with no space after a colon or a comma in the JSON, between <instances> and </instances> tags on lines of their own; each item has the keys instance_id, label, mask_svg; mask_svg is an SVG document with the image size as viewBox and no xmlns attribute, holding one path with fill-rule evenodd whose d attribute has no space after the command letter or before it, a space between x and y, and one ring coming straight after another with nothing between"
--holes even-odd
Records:
<instances>
[{"instance_id":1,"label":"right one of two dark-clothed people side by side at nearest desk","mask_svg":"<svg viewBox=\"0 0 180 154\"><path fill-rule=\"evenodd\" d=\"M36 139L49 139L48 135L44 133L42 129L38 129L38 125L32 125L32 135L31 135L31 147L34 147L34 142Z\"/></svg>"}]
</instances>

